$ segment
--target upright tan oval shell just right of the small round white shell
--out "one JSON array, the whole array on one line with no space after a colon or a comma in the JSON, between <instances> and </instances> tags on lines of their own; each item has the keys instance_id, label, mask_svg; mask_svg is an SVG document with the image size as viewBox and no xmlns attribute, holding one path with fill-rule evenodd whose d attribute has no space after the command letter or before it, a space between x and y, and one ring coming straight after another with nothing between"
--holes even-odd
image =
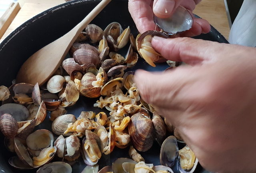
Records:
<instances>
[{"instance_id":1,"label":"upright tan oval shell just right of the small round white shell","mask_svg":"<svg viewBox=\"0 0 256 173\"><path fill-rule=\"evenodd\" d=\"M66 89L66 100L68 102L76 102L79 99L79 91L76 89L76 84L73 81L68 82Z\"/></svg>"}]
</instances>

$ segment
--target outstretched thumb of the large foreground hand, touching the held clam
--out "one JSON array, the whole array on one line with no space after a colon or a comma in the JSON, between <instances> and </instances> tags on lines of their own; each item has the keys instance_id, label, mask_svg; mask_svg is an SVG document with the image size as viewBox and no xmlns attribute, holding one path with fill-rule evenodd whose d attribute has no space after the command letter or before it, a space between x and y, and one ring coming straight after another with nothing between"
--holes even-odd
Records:
<instances>
[{"instance_id":1,"label":"outstretched thumb of the large foreground hand, touching the held clam","mask_svg":"<svg viewBox=\"0 0 256 173\"><path fill-rule=\"evenodd\" d=\"M154 36L151 43L164 58L190 65L214 61L223 51L222 44L193 38L164 39Z\"/></svg>"}]
</instances>

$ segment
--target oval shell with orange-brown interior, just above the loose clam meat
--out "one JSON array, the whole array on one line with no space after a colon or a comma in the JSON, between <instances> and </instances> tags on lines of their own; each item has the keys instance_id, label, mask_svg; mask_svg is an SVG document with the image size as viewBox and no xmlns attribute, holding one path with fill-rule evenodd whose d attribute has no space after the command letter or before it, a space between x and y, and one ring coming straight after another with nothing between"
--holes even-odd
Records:
<instances>
[{"instance_id":1,"label":"oval shell with orange-brown interior, just above the loose clam meat","mask_svg":"<svg viewBox=\"0 0 256 173\"><path fill-rule=\"evenodd\" d=\"M124 85L124 79L116 78L116 79L111 80L108 83L106 83L100 90L100 94L101 95L109 95L110 92L121 88L123 85Z\"/></svg>"}]
</instances>

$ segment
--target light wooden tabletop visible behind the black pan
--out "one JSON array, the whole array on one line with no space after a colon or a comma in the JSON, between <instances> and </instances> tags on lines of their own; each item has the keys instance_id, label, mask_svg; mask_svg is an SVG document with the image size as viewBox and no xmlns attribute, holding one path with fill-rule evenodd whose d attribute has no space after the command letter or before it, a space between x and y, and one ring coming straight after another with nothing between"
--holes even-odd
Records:
<instances>
[{"instance_id":1,"label":"light wooden tabletop visible behind the black pan","mask_svg":"<svg viewBox=\"0 0 256 173\"><path fill-rule=\"evenodd\" d=\"M21 9L0 39L0 42L18 26L26 22L26 20L48 8L64 2L64 0L19 0ZM214 28L228 39L230 28L224 0L202 0L202 2L196 6L194 13L208 20Z\"/></svg>"}]
</instances>

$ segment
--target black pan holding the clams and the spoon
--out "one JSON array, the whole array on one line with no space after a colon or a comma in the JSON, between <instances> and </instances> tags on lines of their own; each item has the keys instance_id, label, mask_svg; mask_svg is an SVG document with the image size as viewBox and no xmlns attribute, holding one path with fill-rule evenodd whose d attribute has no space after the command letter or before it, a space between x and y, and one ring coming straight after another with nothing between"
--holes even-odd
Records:
<instances>
[{"instance_id":1,"label":"black pan holding the clams and the spoon","mask_svg":"<svg viewBox=\"0 0 256 173\"><path fill-rule=\"evenodd\" d=\"M12 80L16 78L16 74L20 66L28 57L30 57L40 48L46 46L50 42L53 42L60 36L70 31L98 3L99 0L74 0L67 2L38 14L12 32L0 44L0 85L10 86ZM110 2L110 4L108 4L108 6L92 21L92 23L100 26L103 29L111 22L119 22L123 28L130 26L131 32L134 34L134 36L138 34L136 26L130 16L130 13L128 12L127 0L112 0L112 2ZM227 40L213 27L211 27L211 31L208 34L201 34L196 38L220 43L228 43ZM121 54L124 55L126 50L127 47L123 48ZM130 70L142 68L148 71L162 71L167 67L168 65L166 63L160 63L156 66L156 68L152 68L140 58L138 64ZM67 113L74 114L76 117L78 117L81 111L90 110L95 111L96 113L100 112L102 109L93 107L93 103L95 103L96 100L97 99L88 99L82 97L79 99L76 105L67 108ZM48 115L45 121L40 124L37 129L51 129L51 121L48 120ZM32 171L20 171L12 168L8 164L8 159L15 154L7 151L5 148L3 143L4 137L2 134L0 134L0 139L1 171L6 173L36 172L36 169ZM160 147L157 143L154 143L153 147L149 151L141 154L145 158L146 163L160 165L159 153ZM115 148L113 153L103 156L102 159L100 159L99 165L100 167L111 165L112 162L118 157L129 157L128 149ZM85 166L86 165L82 159L78 160L72 167L73 173L80 173ZM205 171L201 167L198 167L195 172L208 173L208 171Z\"/></svg>"}]
</instances>

